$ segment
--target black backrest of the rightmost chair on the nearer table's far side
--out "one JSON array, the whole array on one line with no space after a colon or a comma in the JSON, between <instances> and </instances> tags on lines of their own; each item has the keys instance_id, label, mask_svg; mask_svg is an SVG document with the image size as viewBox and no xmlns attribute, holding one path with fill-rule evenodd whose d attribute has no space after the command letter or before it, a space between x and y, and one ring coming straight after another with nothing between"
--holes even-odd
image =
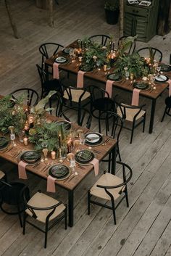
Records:
<instances>
[{"instance_id":1,"label":"black backrest of the rightmost chair on the nearer table's far side","mask_svg":"<svg viewBox=\"0 0 171 256\"><path fill-rule=\"evenodd\" d=\"M120 133L123 127L123 120L120 115L112 111L102 112L101 115L105 117L105 133L106 136L110 136L113 139L117 139L117 143L120 141Z\"/></svg>"}]
</instances>

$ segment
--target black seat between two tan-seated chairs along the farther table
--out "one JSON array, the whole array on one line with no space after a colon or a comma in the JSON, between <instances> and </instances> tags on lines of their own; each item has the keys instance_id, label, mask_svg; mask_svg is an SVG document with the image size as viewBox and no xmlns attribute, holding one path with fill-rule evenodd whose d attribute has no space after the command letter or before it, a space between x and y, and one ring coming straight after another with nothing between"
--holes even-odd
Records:
<instances>
[{"instance_id":1,"label":"black seat between two tan-seated chairs along the farther table","mask_svg":"<svg viewBox=\"0 0 171 256\"><path fill-rule=\"evenodd\" d=\"M114 102L109 98L99 98L93 101L93 108L99 111L114 110Z\"/></svg>"}]
</instances>

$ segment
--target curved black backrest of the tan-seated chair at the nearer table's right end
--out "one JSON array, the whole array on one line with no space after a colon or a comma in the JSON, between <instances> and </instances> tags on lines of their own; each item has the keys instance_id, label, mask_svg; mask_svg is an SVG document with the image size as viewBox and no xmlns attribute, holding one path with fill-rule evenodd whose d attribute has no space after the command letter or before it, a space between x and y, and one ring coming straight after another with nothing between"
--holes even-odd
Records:
<instances>
[{"instance_id":1,"label":"curved black backrest of the tan-seated chair at the nearer table's right end","mask_svg":"<svg viewBox=\"0 0 171 256\"><path fill-rule=\"evenodd\" d=\"M122 186L126 186L127 183L130 181L130 179L133 176L133 170L130 168L129 165L125 164L124 162L118 162L118 161L117 161L117 165L120 165L120 168L119 168L118 172L120 170L122 170L122 183L114 185L114 186L97 185L99 188L105 189L107 194L109 194L109 196L111 196L111 197L113 197L113 196L109 192L108 189L116 189L116 188L119 188L119 187L122 187Z\"/></svg>"}]
</instances>

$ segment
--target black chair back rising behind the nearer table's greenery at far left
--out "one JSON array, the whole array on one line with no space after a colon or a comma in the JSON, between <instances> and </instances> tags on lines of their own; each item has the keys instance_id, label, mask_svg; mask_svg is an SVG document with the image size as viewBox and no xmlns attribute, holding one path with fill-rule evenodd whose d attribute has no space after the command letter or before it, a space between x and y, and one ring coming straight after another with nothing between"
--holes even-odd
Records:
<instances>
[{"instance_id":1,"label":"black chair back rising behind the nearer table's greenery at far left","mask_svg":"<svg viewBox=\"0 0 171 256\"><path fill-rule=\"evenodd\" d=\"M37 91L31 89L31 88L20 88L15 91L12 91L12 98L17 101L20 96L25 96L25 105L27 104L28 106L36 106L38 104L38 93Z\"/></svg>"}]
</instances>

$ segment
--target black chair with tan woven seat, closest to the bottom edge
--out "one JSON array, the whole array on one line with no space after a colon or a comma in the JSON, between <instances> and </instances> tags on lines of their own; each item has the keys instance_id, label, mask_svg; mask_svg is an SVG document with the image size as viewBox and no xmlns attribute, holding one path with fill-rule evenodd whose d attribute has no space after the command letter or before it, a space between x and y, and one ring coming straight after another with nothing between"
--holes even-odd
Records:
<instances>
[{"instance_id":1,"label":"black chair with tan woven seat, closest to the bottom edge","mask_svg":"<svg viewBox=\"0 0 171 256\"><path fill-rule=\"evenodd\" d=\"M25 191L23 193L25 198ZM44 248L47 246L48 231L64 218L64 227L67 229L67 205L38 191L29 201L25 200L26 210L23 219L23 235L25 235L26 223L45 234ZM29 220L28 220L29 218ZM45 228L40 228L36 223L43 223ZM51 226L49 224L51 223Z\"/></svg>"}]
</instances>

